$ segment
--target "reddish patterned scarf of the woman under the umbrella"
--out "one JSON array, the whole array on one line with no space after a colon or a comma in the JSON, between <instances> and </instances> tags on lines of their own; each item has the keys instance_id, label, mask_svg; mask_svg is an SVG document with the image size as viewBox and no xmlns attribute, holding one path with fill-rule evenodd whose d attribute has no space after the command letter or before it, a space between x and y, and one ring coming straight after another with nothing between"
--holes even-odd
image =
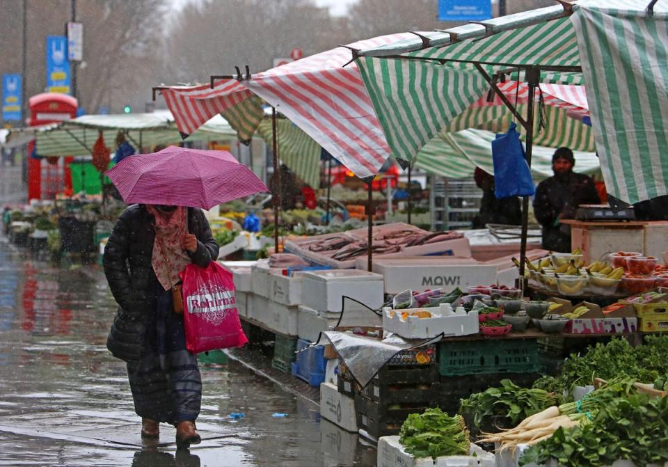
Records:
<instances>
[{"instance_id":1,"label":"reddish patterned scarf of the woman under the umbrella","mask_svg":"<svg viewBox=\"0 0 668 467\"><path fill-rule=\"evenodd\" d=\"M180 282L179 273L191 263L191 259L181 246L186 233L186 208L179 206L172 212L164 212L153 205L146 210L155 218L155 242L151 264L155 276L165 290L170 290Z\"/></svg>"}]
</instances>

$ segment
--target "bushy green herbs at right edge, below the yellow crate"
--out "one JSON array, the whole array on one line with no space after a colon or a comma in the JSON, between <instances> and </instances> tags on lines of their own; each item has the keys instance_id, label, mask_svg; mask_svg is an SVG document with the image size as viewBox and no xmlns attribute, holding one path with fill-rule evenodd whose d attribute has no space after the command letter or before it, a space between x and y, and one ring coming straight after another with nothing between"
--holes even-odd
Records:
<instances>
[{"instance_id":1,"label":"bushy green herbs at right edge, below the yellow crate","mask_svg":"<svg viewBox=\"0 0 668 467\"><path fill-rule=\"evenodd\" d=\"M668 373L668 336L648 336L644 345L633 347L627 340L615 338L598 343L582 355L571 354L562 366L559 384L570 390L576 384L586 386L594 378L612 379L619 375L642 382L652 382Z\"/></svg>"}]
</instances>

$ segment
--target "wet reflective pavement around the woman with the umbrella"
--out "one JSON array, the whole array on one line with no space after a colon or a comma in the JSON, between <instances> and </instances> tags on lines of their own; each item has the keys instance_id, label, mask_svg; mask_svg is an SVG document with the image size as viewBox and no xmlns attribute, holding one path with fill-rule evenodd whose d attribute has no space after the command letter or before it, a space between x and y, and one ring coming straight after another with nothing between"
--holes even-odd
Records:
<instances>
[{"instance_id":1,"label":"wet reflective pavement around the woman with the umbrella","mask_svg":"<svg viewBox=\"0 0 668 467\"><path fill-rule=\"evenodd\" d=\"M232 359L201 367L202 444L177 452L161 425L160 444L142 445L125 364L105 346L115 310L96 264L58 267L0 235L0 466L375 465L374 448L320 419L308 386L297 395Z\"/></svg>"}]
</instances>

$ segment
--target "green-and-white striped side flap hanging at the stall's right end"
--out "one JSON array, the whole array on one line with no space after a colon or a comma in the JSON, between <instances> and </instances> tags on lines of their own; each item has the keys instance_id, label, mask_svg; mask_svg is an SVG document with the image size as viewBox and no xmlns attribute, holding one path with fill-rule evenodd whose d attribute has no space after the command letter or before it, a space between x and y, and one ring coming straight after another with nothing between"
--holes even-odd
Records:
<instances>
[{"instance_id":1,"label":"green-and-white striped side flap hanging at the stall's right end","mask_svg":"<svg viewBox=\"0 0 668 467\"><path fill-rule=\"evenodd\" d=\"M668 195L667 2L653 17L648 1L598 3L571 19L607 191L627 203Z\"/></svg>"}]
</instances>

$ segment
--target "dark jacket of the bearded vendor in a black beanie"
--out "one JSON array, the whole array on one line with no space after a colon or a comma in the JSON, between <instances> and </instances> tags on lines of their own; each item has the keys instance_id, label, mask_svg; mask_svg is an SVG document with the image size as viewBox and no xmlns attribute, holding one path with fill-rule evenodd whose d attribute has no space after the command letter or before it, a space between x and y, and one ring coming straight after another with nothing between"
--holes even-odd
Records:
<instances>
[{"instance_id":1,"label":"dark jacket of the bearded vendor in a black beanie","mask_svg":"<svg viewBox=\"0 0 668 467\"><path fill-rule=\"evenodd\" d=\"M534 197L534 214L543 226L543 248L568 253L571 251L571 229L557 222L559 214L573 219L580 205L598 204L594 180L587 175L571 172L565 180L550 177L539 183Z\"/></svg>"}]
</instances>

